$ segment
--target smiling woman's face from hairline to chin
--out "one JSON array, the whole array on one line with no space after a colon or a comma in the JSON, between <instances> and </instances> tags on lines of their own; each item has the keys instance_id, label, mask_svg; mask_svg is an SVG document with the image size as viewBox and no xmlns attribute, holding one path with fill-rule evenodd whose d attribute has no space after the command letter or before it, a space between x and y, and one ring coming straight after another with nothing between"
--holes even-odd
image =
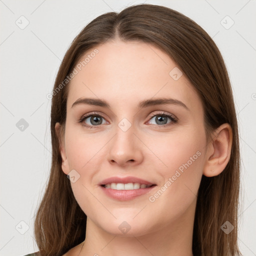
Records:
<instances>
[{"instance_id":1,"label":"smiling woman's face from hairline to chin","mask_svg":"<svg viewBox=\"0 0 256 256\"><path fill-rule=\"evenodd\" d=\"M107 42L80 60L61 155L88 220L119 235L192 223L206 135L190 82L143 42Z\"/></svg>"}]
</instances>

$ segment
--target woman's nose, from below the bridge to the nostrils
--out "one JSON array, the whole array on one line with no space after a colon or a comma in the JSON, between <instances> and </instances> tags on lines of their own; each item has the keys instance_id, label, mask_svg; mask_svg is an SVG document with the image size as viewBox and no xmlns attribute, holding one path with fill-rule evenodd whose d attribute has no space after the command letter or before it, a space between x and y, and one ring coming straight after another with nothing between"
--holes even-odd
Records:
<instances>
[{"instance_id":1,"label":"woman's nose, from below the bridge to the nostrils","mask_svg":"<svg viewBox=\"0 0 256 256\"><path fill-rule=\"evenodd\" d=\"M134 134L133 126L124 131L116 128L116 134L111 139L108 151L108 161L110 164L120 166L137 165L142 162L142 143Z\"/></svg>"}]
</instances>

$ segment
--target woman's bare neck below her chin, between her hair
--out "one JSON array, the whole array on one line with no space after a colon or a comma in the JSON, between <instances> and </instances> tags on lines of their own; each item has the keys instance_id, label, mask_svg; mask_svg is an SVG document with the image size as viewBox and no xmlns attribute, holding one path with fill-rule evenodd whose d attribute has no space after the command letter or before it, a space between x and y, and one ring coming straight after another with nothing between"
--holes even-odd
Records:
<instances>
[{"instance_id":1,"label":"woman's bare neck below her chin, between her hair","mask_svg":"<svg viewBox=\"0 0 256 256\"><path fill-rule=\"evenodd\" d=\"M192 256L194 212L195 202L171 223L140 236L110 234L87 217L86 239L79 256Z\"/></svg>"}]
</instances>

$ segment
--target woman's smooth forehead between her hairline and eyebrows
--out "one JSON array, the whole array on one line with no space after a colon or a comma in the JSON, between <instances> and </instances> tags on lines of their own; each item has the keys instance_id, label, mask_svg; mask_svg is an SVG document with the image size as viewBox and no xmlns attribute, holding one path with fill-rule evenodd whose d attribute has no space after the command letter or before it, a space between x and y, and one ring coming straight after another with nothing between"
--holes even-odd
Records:
<instances>
[{"instance_id":1,"label":"woman's smooth forehead between her hairline and eyebrows","mask_svg":"<svg viewBox=\"0 0 256 256\"><path fill-rule=\"evenodd\" d=\"M176 79L181 74L177 64L152 44L120 40L101 44L81 57L76 70L67 108L81 97L103 98L113 107L152 97L177 98L187 106L200 101L184 74Z\"/></svg>"}]
</instances>

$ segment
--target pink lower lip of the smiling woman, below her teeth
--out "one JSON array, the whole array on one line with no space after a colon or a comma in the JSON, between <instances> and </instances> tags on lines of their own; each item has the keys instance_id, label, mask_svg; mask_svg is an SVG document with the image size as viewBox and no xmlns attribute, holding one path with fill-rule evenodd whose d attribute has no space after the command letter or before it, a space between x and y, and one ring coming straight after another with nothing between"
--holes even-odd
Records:
<instances>
[{"instance_id":1,"label":"pink lower lip of the smiling woman, below her teeth","mask_svg":"<svg viewBox=\"0 0 256 256\"><path fill-rule=\"evenodd\" d=\"M131 189L131 190L117 190L112 188L105 188L103 186L100 186L103 192L116 200L120 201L127 201L131 200L139 195L148 193L154 186L146 187L146 188L138 188L138 189Z\"/></svg>"}]
</instances>

